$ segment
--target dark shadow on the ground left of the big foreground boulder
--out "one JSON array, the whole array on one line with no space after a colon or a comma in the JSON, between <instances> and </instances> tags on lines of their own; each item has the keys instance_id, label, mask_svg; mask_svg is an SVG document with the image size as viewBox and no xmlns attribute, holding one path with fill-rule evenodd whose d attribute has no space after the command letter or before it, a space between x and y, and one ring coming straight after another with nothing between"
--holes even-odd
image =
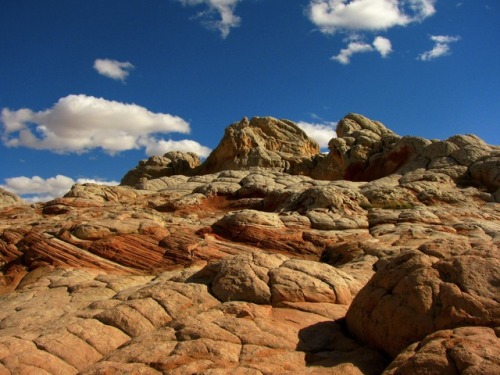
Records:
<instances>
[{"instance_id":1,"label":"dark shadow on the ground left of the big foreground boulder","mask_svg":"<svg viewBox=\"0 0 500 375\"><path fill-rule=\"evenodd\" d=\"M344 319L321 322L300 330L297 350L306 353L307 366L353 366L363 374L380 374L390 362L383 353L350 337Z\"/></svg>"}]
</instances>

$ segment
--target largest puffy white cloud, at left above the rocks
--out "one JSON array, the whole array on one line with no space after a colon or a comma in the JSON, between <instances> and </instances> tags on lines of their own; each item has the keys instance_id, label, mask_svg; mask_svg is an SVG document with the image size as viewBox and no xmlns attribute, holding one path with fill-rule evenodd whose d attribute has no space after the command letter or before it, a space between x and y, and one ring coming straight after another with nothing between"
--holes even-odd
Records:
<instances>
[{"instance_id":1,"label":"largest puffy white cloud, at left above the rocks","mask_svg":"<svg viewBox=\"0 0 500 375\"><path fill-rule=\"evenodd\" d=\"M59 153L84 153L101 148L115 154L154 147L154 137L158 134L190 132L189 123L180 117L85 95L61 98L52 108L40 112L4 108L0 120L2 141L7 147L24 146Z\"/></svg>"}]
</instances>

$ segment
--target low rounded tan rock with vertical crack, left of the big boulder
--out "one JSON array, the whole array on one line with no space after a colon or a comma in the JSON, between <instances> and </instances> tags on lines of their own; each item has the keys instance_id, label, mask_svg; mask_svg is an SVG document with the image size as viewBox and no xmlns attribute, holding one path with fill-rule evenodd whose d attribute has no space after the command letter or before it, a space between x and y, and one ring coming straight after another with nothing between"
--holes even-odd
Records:
<instances>
[{"instance_id":1,"label":"low rounded tan rock with vertical crack, left of the big boulder","mask_svg":"<svg viewBox=\"0 0 500 375\"><path fill-rule=\"evenodd\" d=\"M349 304L361 289L350 275L329 265L290 260L283 255L253 254L222 260L210 267L208 281L221 301L282 306L290 302Z\"/></svg>"}]
</instances>

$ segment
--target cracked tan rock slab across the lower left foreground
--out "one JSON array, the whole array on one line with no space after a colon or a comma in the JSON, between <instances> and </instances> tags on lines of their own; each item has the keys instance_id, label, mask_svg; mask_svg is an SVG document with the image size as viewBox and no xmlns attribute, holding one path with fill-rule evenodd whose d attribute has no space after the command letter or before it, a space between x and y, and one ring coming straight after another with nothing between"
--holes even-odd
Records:
<instances>
[{"instance_id":1,"label":"cracked tan rock slab across the lower left foreground","mask_svg":"<svg viewBox=\"0 0 500 375\"><path fill-rule=\"evenodd\" d=\"M345 306L272 307L241 297L217 300L196 270L153 277L39 268L0 299L0 369L377 374L385 367L383 355L336 322Z\"/></svg>"}]
</instances>

